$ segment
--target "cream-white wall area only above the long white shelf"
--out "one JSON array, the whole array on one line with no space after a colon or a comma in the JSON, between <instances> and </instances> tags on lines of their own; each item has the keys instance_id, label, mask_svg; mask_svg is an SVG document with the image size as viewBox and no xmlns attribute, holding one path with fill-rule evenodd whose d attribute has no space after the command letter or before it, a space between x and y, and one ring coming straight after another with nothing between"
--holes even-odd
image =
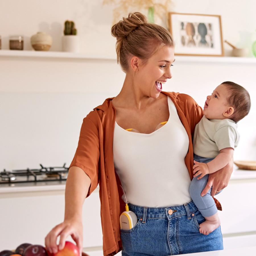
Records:
<instances>
[{"instance_id":1,"label":"cream-white wall area only above the long white shelf","mask_svg":"<svg viewBox=\"0 0 256 256\"><path fill-rule=\"evenodd\" d=\"M2 49L8 49L10 35L21 34L25 49L32 49L30 37L36 32L47 32L53 37L50 51L61 51L64 21L74 20L80 36L81 52L109 53L115 55L115 39L110 34L112 5L102 5L103 0L1 0L0 35ZM237 47L251 48L256 40L256 2L254 0L173 0L170 11L221 15L223 39ZM138 11L131 9L131 11ZM139 10L144 12L143 10ZM124 16L127 15L124 13ZM157 20L166 26L166 18ZM104 43L103 43L104 42ZM224 45L226 54L230 46ZM249 54L251 56L251 53Z\"/></svg>"}]
</instances>

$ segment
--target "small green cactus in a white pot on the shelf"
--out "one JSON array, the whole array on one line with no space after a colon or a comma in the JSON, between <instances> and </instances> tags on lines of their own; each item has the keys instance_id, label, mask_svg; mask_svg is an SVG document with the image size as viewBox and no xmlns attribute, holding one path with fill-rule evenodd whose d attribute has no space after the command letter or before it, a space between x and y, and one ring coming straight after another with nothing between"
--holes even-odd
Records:
<instances>
[{"instance_id":1,"label":"small green cactus in a white pot on the shelf","mask_svg":"<svg viewBox=\"0 0 256 256\"><path fill-rule=\"evenodd\" d=\"M75 23L66 20L64 23L64 36L62 37L62 50L68 52L79 52L79 38Z\"/></svg>"}]
</instances>

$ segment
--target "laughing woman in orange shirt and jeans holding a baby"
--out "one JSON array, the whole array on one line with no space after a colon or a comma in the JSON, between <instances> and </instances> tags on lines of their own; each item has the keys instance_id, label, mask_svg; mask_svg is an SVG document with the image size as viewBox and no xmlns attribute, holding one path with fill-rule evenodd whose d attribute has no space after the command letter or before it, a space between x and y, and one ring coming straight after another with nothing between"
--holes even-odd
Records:
<instances>
[{"instance_id":1,"label":"laughing woman in orange shirt and jeans holding a baby","mask_svg":"<svg viewBox=\"0 0 256 256\"><path fill-rule=\"evenodd\" d=\"M46 247L56 252L71 235L82 251L82 205L99 182L104 255L121 249L129 256L222 249L220 228L208 236L199 233L204 218L189 195L192 139L202 109L185 94L162 92L172 77L172 36L141 13L115 24L112 35L125 81L115 98L84 118L66 184L64 222L46 236ZM202 194L226 187L231 172L230 164L212 174ZM138 218L121 232L120 184Z\"/></svg>"}]
</instances>

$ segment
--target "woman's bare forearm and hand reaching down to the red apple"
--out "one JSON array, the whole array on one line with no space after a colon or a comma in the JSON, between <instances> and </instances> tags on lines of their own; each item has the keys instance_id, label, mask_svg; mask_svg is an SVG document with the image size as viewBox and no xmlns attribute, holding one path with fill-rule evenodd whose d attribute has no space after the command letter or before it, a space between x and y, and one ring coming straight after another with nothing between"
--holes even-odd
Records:
<instances>
[{"instance_id":1,"label":"woman's bare forearm and hand reaching down to the red apple","mask_svg":"<svg viewBox=\"0 0 256 256\"><path fill-rule=\"evenodd\" d=\"M55 226L45 238L45 245L50 253L57 253L58 250L63 249L69 235L76 242L80 254L82 253L82 206L90 184L89 176L81 168L73 166L69 169L65 189L64 221ZM57 245L58 236L59 245Z\"/></svg>"}]
</instances>

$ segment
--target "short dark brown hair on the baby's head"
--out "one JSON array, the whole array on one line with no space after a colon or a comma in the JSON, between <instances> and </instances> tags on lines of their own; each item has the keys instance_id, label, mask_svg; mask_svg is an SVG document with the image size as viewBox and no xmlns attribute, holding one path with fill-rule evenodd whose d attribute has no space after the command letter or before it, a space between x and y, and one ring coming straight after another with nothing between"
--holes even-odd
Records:
<instances>
[{"instance_id":1,"label":"short dark brown hair on the baby's head","mask_svg":"<svg viewBox=\"0 0 256 256\"><path fill-rule=\"evenodd\" d=\"M237 123L246 115L248 115L251 109L250 95L247 90L243 88L243 86L234 82L226 81L222 84L224 84L228 88L228 105L234 108L234 113L231 116L231 119Z\"/></svg>"}]
</instances>

